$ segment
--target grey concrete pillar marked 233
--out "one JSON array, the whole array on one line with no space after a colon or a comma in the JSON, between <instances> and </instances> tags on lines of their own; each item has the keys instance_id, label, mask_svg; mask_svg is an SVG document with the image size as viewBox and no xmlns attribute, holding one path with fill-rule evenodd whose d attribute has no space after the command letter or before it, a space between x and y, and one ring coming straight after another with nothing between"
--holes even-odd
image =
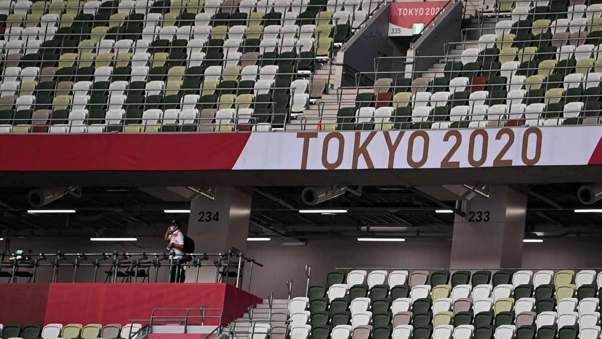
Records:
<instances>
[{"instance_id":1,"label":"grey concrete pillar marked 233","mask_svg":"<svg viewBox=\"0 0 602 339\"><path fill-rule=\"evenodd\" d=\"M466 200L462 211L465 217L454 221L451 268L521 267L526 195L494 185L488 199Z\"/></svg>"}]
</instances>

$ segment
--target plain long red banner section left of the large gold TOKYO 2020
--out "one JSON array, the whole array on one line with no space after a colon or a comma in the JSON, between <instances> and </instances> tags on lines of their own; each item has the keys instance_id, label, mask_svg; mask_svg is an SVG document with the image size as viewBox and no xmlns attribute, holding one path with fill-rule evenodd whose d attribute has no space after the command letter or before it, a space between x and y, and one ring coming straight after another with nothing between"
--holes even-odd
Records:
<instances>
[{"instance_id":1,"label":"plain long red banner section left of the large gold TOKYO 2020","mask_svg":"<svg viewBox=\"0 0 602 339\"><path fill-rule=\"evenodd\" d=\"M231 170L250 133L0 135L0 171Z\"/></svg>"}]
</instances>

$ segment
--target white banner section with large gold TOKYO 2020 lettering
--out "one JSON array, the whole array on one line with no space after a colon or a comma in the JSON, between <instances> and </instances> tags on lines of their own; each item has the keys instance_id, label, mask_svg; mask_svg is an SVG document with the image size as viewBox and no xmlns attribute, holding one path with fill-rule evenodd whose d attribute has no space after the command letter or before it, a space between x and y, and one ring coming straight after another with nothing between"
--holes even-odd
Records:
<instances>
[{"instance_id":1,"label":"white banner section with large gold TOKYO 2020 lettering","mask_svg":"<svg viewBox=\"0 0 602 339\"><path fill-rule=\"evenodd\" d=\"M602 127L252 133L234 170L477 168L602 163Z\"/></svg>"}]
</instances>

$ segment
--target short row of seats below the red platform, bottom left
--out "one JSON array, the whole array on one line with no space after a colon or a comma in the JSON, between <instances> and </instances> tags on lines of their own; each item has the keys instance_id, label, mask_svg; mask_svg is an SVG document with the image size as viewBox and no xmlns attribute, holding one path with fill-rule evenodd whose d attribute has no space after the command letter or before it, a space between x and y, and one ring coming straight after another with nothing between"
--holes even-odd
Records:
<instances>
[{"instance_id":1,"label":"short row of seats below the red platform, bottom left","mask_svg":"<svg viewBox=\"0 0 602 339\"><path fill-rule=\"evenodd\" d=\"M142 325L134 324L59 324L52 323L46 326L40 325L2 325L0 324L0 338L20 339L93 339L93 338L125 338L130 339L133 334L140 331Z\"/></svg>"}]
</instances>

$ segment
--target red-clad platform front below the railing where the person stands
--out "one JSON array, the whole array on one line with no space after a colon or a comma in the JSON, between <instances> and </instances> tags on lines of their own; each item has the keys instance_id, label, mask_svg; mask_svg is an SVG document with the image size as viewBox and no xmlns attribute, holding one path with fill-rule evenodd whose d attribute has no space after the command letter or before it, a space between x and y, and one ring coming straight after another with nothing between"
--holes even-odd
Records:
<instances>
[{"instance_id":1,"label":"red-clad platform front below the railing where the person stands","mask_svg":"<svg viewBox=\"0 0 602 339\"><path fill-rule=\"evenodd\" d=\"M228 284L0 284L4 323L128 323L154 308L223 308L222 324L241 317L259 297ZM207 311L206 315L219 315ZM161 315L170 315L162 312ZM172 315L181 315L181 312ZM200 323L199 320L190 320ZM143 322L141 322L143 323ZM207 319L217 325L219 319Z\"/></svg>"}]
</instances>

